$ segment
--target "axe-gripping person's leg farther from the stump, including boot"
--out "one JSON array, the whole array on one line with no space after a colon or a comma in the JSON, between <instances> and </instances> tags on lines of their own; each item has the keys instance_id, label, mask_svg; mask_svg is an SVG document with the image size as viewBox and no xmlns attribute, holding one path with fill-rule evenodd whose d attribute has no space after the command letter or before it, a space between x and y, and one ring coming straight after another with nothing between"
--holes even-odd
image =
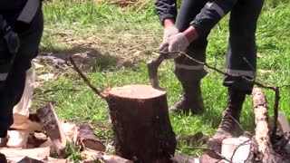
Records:
<instances>
[{"instance_id":1,"label":"axe-gripping person's leg farther from the stump, including boot","mask_svg":"<svg viewBox=\"0 0 290 163\"><path fill-rule=\"evenodd\" d=\"M256 73L256 23L263 3L238 1L230 14L226 72L233 76L226 76L223 82L228 87L228 101L216 137L241 134L239 117L246 95L253 89L248 80Z\"/></svg>"}]
</instances>

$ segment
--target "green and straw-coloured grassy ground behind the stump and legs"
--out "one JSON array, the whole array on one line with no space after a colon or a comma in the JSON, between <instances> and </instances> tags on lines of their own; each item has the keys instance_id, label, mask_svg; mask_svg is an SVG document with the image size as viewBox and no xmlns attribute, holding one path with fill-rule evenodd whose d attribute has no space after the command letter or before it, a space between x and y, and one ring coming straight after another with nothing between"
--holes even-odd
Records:
<instances>
[{"instance_id":1,"label":"green and straw-coloured grassy ground behind the stump and legs","mask_svg":"<svg viewBox=\"0 0 290 163\"><path fill-rule=\"evenodd\" d=\"M106 3L104 3L106 2ZM106 84L118 87L126 84L149 84L146 62L156 56L162 28L155 14L153 1L142 0L137 4L128 1L63 0L43 5L45 30L41 44L42 54L65 58L70 54L83 54L82 64L92 83L103 90ZM257 26L258 50L257 81L268 85L290 84L290 4L283 1L267 2ZM224 70L227 49L227 20L223 19L209 36L208 64ZM48 68L47 68L48 67ZM58 115L64 120L91 123L96 134L112 142L108 119L108 105L97 97L72 69L47 66L38 70L60 72L57 80L44 82L34 94L34 108L43 101L56 101ZM50 68L49 68L50 67ZM160 84L168 92L169 106L179 99L180 85L173 74L173 62L162 63ZM227 102L227 89L222 86L223 76L208 70L202 81L206 112L199 117L170 116L177 135L198 131L212 136L218 128L222 111ZM274 93L266 91L271 117ZM290 88L281 89L279 110L288 109ZM244 129L253 131L254 117L251 96L247 97L242 112ZM290 116L288 117L290 118ZM98 127L97 127L98 126ZM102 126L102 127L100 127ZM177 152L198 156L202 151L187 149L189 144L179 142ZM113 152L110 150L110 152Z\"/></svg>"}]
</instances>

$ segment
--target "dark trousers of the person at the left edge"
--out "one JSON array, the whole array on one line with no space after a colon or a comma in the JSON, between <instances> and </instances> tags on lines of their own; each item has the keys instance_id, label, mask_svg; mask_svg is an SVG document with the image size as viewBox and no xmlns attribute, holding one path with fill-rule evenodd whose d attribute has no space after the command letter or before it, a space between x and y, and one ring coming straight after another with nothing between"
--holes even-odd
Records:
<instances>
[{"instance_id":1,"label":"dark trousers of the person at the left edge","mask_svg":"<svg viewBox=\"0 0 290 163\"><path fill-rule=\"evenodd\" d=\"M38 53L43 34L43 12L40 7L30 24L18 23L13 20L14 17L5 19L19 35L21 45L14 62L0 70L7 73L0 87L0 138L5 137L7 129L13 124L14 105L22 98L26 71L31 68L31 61ZM3 39L0 40L0 55L9 55Z\"/></svg>"}]
</instances>

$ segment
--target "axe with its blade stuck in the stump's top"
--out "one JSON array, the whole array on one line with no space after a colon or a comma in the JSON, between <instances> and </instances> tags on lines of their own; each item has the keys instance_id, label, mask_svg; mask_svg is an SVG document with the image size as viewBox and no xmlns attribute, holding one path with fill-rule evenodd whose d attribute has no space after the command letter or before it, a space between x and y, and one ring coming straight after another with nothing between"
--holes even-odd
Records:
<instances>
[{"instance_id":1,"label":"axe with its blade stuck in the stump's top","mask_svg":"<svg viewBox=\"0 0 290 163\"><path fill-rule=\"evenodd\" d=\"M155 60L151 60L150 62L147 62L147 69L149 72L150 84L151 84L152 88L161 89L160 85L159 85L159 80L158 80L158 68L159 68L161 62L163 62L163 60L168 55L168 53L166 53L166 52L168 52L167 49L168 48L165 48L165 50L163 50ZM161 89L161 90L163 90L163 89Z\"/></svg>"}]
</instances>

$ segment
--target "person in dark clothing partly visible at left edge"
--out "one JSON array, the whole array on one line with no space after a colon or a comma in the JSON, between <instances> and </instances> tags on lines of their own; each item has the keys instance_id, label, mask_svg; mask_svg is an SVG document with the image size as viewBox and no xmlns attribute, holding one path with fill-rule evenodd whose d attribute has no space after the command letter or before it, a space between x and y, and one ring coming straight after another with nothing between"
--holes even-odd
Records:
<instances>
[{"instance_id":1,"label":"person in dark clothing partly visible at left edge","mask_svg":"<svg viewBox=\"0 0 290 163\"><path fill-rule=\"evenodd\" d=\"M42 0L0 2L0 147L24 92L26 71L43 34Z\"/></svg>"}]
</instances>

